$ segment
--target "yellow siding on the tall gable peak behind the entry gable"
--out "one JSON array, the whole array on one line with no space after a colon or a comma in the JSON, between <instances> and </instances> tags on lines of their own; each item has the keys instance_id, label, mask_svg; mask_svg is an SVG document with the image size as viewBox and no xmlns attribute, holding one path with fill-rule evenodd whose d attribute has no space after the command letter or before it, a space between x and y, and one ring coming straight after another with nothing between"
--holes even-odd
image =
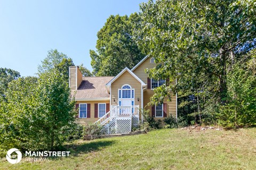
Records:
<instances>
[{"instance_id":1,"label":"yellow siding on the tall gable peak behind the entry gable","mask_svg":"<svg viewBox=\"0 0 256 170\"><path fill-rule=\"evenodd\" d=\"M144 83L147 84L148 74L145 72L146 69L152 69L156 66L156 63L150 63L150 58L148 57L143 63L141 63L133 73L136 74Z\"/></svg>"}]
</instances>

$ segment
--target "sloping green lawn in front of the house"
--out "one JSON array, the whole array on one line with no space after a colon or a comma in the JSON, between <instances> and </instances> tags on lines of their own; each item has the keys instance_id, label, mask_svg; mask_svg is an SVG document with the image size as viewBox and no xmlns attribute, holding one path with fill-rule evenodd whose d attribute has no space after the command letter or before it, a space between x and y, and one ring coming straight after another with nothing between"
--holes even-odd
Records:
<instances>
[{"instance_id":1,"label":"sloping green lawn in front of the house","mask_svg":"<svg viewBox=\"0 0 256 170\"><path fill-rule=\"evenodd\" d=\"M237 131L155 130L127 137L76 141L71 156L0 169L255 169L256 128Z\"/></svg>"}]
</instances>

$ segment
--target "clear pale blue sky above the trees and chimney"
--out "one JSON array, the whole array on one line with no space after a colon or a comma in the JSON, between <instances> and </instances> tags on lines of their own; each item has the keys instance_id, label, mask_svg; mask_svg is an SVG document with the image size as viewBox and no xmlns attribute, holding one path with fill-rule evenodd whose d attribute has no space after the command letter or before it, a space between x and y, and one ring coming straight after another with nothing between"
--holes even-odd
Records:
<instances>
[{"instance_id":1,"label":"clear pale blue sky above the trees and chimney","mask_svg":"<svg viewBox=\"0 0 256 170\"><path fill-rule=\"evenodd\" d=\"M47 51L58 49L92 70L89 50L107 18L138 12L141 2L0 0L0 67L35 75Z\"/></svg>"}]
</instances>

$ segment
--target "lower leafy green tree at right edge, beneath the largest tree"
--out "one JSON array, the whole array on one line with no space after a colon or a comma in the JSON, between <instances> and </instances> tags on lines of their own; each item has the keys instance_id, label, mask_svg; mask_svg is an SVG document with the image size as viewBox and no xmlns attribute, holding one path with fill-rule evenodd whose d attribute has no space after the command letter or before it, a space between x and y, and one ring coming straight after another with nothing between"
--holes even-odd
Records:
<instances>
[{"instance_id":1,"label":"lower leafy green tree at right edge, beneath the largest tree","mask_svg":"<svg viewBox=\"0 0 256 170\"><path fill-rule=\"evenodd\" d=\"M246 62L243 62L246 61ZM220 124L228 128L256 125L256 50L243 56L227 74L229 103L221 107Z\"/></svg>"}]
</instances>

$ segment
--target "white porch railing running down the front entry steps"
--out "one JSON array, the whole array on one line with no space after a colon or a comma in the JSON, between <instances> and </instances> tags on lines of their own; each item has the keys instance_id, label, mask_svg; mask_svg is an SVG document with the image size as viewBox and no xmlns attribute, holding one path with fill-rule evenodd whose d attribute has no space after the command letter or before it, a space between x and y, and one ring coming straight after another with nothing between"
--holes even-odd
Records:
<instances>
[{"instance_id":1,"label":"white porch railing running down the front entry steps","mask_svg":"<svg viewBox=\"0 0 256 170\"><path fill-rule=\"evenodd\" d=\"M114 106L108 113L106 113L98 121L96 121L95 124L99 123L101 125L105 125L115 117L119 117L119 116L132 117L132 115L139 116L139 105Z\"/></svg>"}]
</instances>

